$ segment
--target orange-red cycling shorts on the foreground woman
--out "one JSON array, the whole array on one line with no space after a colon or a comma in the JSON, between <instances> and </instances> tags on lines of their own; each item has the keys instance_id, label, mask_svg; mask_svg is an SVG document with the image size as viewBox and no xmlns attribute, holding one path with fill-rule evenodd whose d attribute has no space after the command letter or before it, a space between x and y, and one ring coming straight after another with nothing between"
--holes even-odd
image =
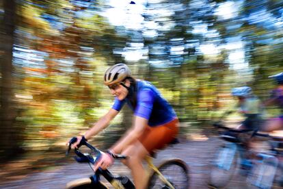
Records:
<instances>
[{"instance_id":1,"label":"orange-red cycling shorts on the foreground woman","mask_svg":"<svg viewBox=\"0 0 283 189\"><path fill-rule=\"evenodd\" d=\"M163 149L166 144L176 138L179 131L178 118L155 127L146 126L144 133L139 137L146 150L150 153L155 149Z\"/></svg>"}]
</instances>

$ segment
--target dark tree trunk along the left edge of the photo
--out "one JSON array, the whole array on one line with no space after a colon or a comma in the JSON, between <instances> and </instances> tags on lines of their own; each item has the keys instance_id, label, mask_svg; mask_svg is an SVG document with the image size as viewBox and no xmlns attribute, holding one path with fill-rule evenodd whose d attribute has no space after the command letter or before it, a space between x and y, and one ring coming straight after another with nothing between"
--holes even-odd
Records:
<instances>
[{"instance_id":1,"label":"dark tree trunk along the left edge of the photo","mask_svg":"<svg viewBox=\"0 0 283 189\"><path fill-rule=\"evenodd\" d=\"M14 153L16 147L16 135L13 123L15 120L13 75L12 75L12 49L14 44L14 28L16 3L14 0L5 0L3 3L4 19L1 24L1 96L0 96L0 118L1 118L1 140L0 154L4 157ZM1 158L3 158L3 156Z\"/></svg>"}]
</instances>

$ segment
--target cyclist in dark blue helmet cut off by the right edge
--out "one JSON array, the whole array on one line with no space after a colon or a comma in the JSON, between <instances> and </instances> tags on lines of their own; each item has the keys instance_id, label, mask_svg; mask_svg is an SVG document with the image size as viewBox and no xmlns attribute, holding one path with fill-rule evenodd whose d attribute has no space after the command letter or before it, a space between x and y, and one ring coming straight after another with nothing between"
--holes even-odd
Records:
<instances>
[{"instance_id":1,"label":"cyclist in dark blue helmet cut off by the right edge","mask_svg":"<svg viewBox=\"0 0 283 189\"><path fill-rule=\"evenodd\" d=\"M278 105L278 107L283 110L283 73L272 75L269 78L274 79L278 86L271 91L271 97L264 102L264 105ZM283 114L277 118L269 119L267 124L263 125L261 129L267 132L283 129Z\"/></svg>"}]
</instances>

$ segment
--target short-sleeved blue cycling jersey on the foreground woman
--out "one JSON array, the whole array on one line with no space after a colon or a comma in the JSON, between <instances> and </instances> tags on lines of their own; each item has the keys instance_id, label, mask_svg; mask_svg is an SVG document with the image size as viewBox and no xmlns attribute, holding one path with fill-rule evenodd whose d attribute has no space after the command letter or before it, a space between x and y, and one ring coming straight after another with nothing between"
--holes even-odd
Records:
<instances>
[{"instance_id":1,"label":"short-sleeved blue cycling jersey on the foreground woman","mask_svg":"<svg viewBox=\"0 0 283 189\"><path fill-rule=\"evenodd\" d=\"M120 101L115 99L112 108L120 111L127 103L135 116L148 119L148 125L154 127L163 125L176 118L172 106L161 96L160 92L149 81L137 81L137 105L133 108L129 97Z\"/></svg>"}]
</instances>

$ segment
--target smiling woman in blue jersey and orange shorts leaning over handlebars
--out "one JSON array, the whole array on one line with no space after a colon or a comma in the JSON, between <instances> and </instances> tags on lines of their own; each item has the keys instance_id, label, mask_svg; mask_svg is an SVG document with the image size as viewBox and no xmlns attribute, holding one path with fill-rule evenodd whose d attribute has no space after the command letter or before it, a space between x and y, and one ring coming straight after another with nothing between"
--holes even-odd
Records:
<instances>
[{"instance_id":1,"label":"smiling woman in blue jersey and orange shorts leaning over handlebars","mask_svg":"<svg viewBox=\"0 0 283 189\"><path fill-rule=\"evenodd\" d=\"M129 156L122 162L131 169L136 188L146 188L146 171L142 160L155 149L162 149L178 134L178 118L172 106L150 82L134 79L126 64L115 64L107 69L104 84L115 96L112 108L72 145L77 147L82 138L90 139L105 129L120 112L124 103L134 112L133 126L103 153L96 168L113 164L113 153Z\"/></svg>"}]
</instances>

